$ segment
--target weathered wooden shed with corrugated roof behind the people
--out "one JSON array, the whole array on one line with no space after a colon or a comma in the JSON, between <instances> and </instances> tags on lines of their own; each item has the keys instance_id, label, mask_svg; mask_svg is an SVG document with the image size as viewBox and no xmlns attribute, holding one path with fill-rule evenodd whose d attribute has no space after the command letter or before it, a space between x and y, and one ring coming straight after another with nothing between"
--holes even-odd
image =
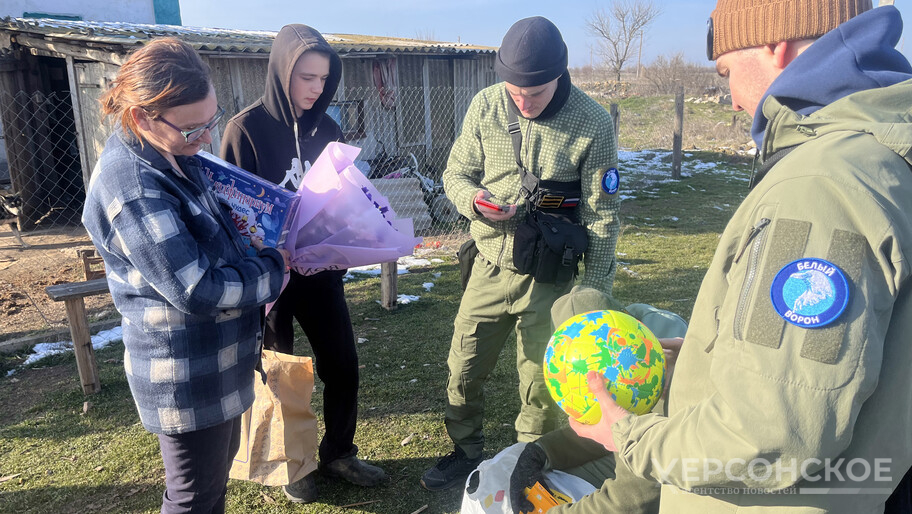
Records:
<instances>
[{"instance_id":1,"label":"weathered wooden shed with corrugated roof behind the people","mask_svg":"<svg viewBox=\"0 0 912 514\"><path fill-rule=\"evenodd\" d=\"M131 50L163 36L187 41L209 63L227 111L220 129L263 93L275 32L0 19L0 125L10 181L26 202L25 228L48 216L78 222L85 186L112 128L97 100ZM385 153L395 161L411 153L422 170L439 177L469 102L497 80L495 49L324 36L343 63L343 82L329 113L348 141L363 149L360 158Z\"/></svg>"}]
</instances>

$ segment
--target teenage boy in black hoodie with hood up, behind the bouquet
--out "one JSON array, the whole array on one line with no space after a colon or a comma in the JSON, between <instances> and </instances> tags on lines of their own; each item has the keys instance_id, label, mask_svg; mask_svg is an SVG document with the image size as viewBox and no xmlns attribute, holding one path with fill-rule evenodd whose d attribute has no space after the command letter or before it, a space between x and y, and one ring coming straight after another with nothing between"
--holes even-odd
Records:
<instances>
[{"instance_id":1,"label":"teenage boy in black hoodie with hood up, behind the bouquet","mask_svg":"<svg viewBox=\"0 0 912 514\"><path fill-rule=\"evenodd\" d=\"M266 92L225 128L222 158L276 184L297 190L304 173L342 130L326 115L339 81L342 61L323 36L305 25L286 25L269 54ZM264 346L291 354L294 320L313 349L323 381L326 433L320 442L323 474L372 487L386 473L358 459L353 443L358 420L358 355L342 277L345 270L303 276L294 271L266 318ZM316 499L314 474L286 485L292 501Z\"/></svg>"}]
</instances>

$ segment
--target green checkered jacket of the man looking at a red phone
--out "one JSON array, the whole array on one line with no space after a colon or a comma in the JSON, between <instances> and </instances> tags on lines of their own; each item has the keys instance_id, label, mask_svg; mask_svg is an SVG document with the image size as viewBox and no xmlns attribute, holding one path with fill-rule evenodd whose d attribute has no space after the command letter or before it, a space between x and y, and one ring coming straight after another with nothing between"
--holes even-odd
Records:
<instances>
[{"instance_id":1,"label":"green checkered jacket of the man looking at a red phone","mask_svg":"<svg viewBox=\"0 0 912 514\"><path fill-rule=\"evenodd\" d=\"M480 91L469 106L462 131L443 172L443 185L456 209L471 220L478 251L501 268L513 265L513 234L525 215L520 175L507 132L508 97L503 83ZM523 134L522 162L544 180L581 180L578 213L588 229L589 249L583 256L582 284L611 294L616 267L618 194L601 188L605 171L617 167L617 142L611 115L575 86L566 104L545 120L519 118ZM486 189L491 201L520 204L516 216L494 222L473 208L475 194Z\"/></svg>"}]
</instances>

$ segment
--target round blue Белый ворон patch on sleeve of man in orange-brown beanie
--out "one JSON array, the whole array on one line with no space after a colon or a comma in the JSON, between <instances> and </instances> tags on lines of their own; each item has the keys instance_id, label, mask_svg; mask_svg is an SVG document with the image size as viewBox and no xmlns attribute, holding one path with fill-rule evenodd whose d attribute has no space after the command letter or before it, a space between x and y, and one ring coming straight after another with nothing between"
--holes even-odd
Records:
<instances>
[{"instance_id":1,"label":"round blue \u0411\u0435\u043b\u044b\u0439 \u0432\u043e\u0440\u043e\u043d patch on sleeve of man in orange-brown beanie","mask_svg":"<svg viewBox=\"0 0 912 514\"><path fill-rule=\"evenodd\" d=\"M829 325L849 304L849 284L839 267L823 259L792 261L776 273L770 288L776 313L792 325Z\"/></svg>"}]
</instances>

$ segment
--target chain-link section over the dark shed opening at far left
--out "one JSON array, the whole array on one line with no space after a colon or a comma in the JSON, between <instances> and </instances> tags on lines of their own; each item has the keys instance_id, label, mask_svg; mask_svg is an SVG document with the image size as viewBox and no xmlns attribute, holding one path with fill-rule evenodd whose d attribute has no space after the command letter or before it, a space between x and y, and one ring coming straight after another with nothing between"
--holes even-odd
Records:
<instances>
[{"instance_id":1,"label":"chain-link section over the dark shed opening at far left","mask_svg":"<svg viewBox=\"0 0 912 514\"><path fill-rule=\"evenodd\" d=\"M22 229L78 224L85 189L69 93L0 94L0 122L8 166L0 187L19 195Z\"/></svg>"}]
</instances>

